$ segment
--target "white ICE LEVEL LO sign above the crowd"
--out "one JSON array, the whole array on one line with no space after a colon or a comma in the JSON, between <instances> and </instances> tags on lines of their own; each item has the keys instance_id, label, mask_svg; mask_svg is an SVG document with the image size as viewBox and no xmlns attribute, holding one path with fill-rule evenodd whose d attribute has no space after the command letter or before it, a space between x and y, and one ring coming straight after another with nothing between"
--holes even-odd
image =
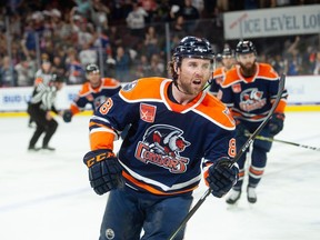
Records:
<instances>
[{"instance_id":1,"label":"white ICE LEVEL LO sign above the crowd","mask_svg":"<svg viewBox=\"0 0 320 240\"><path fill-rule=\"evenodd\" d=\"M226 39L320 33L320 4L228 12Z\"/></svg>"}]
</instances>

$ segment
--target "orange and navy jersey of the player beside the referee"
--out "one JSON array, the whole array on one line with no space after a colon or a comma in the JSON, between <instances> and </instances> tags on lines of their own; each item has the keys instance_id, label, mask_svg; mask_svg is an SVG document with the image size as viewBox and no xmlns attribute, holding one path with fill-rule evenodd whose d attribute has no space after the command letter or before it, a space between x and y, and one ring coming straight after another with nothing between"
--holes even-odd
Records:
<instances>
[{"instance_id":1,"label":"orange and navy jersey of the player beside the referee","mask_svg":"<svg viewBox=\"0 0 320 240\"><path fill-rule=\"evenodd\" d=\"M118 80L112 78L102 78L98 88L92 88L90 82L82 84L79 94L71 103L70 110L72 114L80 112L88 103L92 110L96 110L107 98L113 96L121 89Z\"/></svg>"}]
</instances>

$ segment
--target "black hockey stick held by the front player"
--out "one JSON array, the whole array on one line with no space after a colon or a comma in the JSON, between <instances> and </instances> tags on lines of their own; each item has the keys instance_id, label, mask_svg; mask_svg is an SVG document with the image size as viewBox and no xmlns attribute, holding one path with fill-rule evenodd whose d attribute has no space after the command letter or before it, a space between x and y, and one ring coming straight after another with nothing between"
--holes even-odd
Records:
<instances>
[{"instance_id":1,"label":"black hockey stick held by the front player","mask_svg":"<svg viewBox=\"0 0 320 240\"><path fill-rule=\"evenodd\" d=\"M284 83L286 83L286 76L281 74L280 77L280 81L279 81L279 89L278 89L278 93L277 93L277 98L276 101L272 104L272 108L270 109L268 116L266 117L266 119L263 120L263 122L256 129L256 131L248 138L248 140L246 141L246 143L241 147L240 151L238 151L238 153L236 154L236 157L231 160L231 166L234 164L240 158L241 156L249 149L250 144L253 142L254 138L260 133L260 131L266 127L266 124L268 123L268 121L270 120L270 118L272 117L277 106L279 104L281 97L282 97L282 92L284 89ZM231 167L230 166L230 167ZM186 216L186 218L183 219L183 221L180 223L180 226L174 230L174 232L171 233L171 236L169 237L168 240L173 240L176 238L176 236L179 233L179 231L187 224L187 222L189 221L189 219L196 213L196 211L200 208L200 206L204 202L204 200L207 199L207 197L209 194L211 194L212 190L210 188L207 189L207 191L203 193L203 196L198 200L198 202L193 206L193 208L188 212L188 214Z\"/></svg>"}]
</instances>

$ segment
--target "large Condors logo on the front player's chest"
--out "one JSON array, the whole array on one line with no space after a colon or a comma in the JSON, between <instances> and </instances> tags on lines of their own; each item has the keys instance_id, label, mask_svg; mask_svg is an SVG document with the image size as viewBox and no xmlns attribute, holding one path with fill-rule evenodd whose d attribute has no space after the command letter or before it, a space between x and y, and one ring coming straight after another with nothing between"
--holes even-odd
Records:
<instances>
[{"instance_id":1,"label":"large Condors logo on the front player's chest","mask_svg":"<svg viewBox=\"0 0 320 240\"><path fill-rule=\"evenodd\" d=\"M156 164L172 173L186 172L190 160L180 153L190 146L190 142L182 134L182 130L172 126L152 126L138 143L134 156L146 164Z\"/></svg>"}]
</instances>

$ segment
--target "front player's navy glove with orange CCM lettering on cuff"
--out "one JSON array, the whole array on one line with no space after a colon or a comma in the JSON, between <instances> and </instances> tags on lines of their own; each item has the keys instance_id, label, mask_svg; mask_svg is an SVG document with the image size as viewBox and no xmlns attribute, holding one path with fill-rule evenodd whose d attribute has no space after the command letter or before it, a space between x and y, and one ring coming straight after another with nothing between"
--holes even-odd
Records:
<instances>
[{"instance_id":1,"label":"front player's navy glove with orange CCM lettering on cuff","mask_svg":"<svg viewBox=\"0 0 320 240\"><path fill-rule=\"evenodd\" d=\"M90 151L83 157L83 162L89 168L90 184L97 194L123 186L121 164L111 150Z\"/></svg>"}]
</instances>

